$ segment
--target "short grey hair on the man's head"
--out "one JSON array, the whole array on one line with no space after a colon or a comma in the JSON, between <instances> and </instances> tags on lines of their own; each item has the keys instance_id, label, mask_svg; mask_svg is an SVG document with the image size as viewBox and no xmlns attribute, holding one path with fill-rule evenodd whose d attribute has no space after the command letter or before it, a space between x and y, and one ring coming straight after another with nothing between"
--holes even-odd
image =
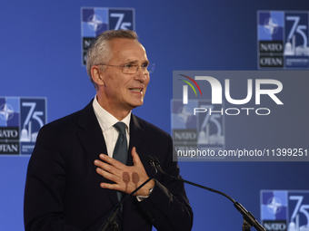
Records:
<instances>
[{"instance_id":1,"label":"short grey hair on the man's head","mask_svg":"<svg viewBox=\"0 0 309 231\"><path fill-rule=\"evenodd\" d=\"M91 77L91 68L95 64L108 63L113 58L109 41L115 38L127 38L138 41L137 34L130 30L111 30L97 35L95 40L90 44L86 55L87 74L90 81L94 84L95 90L97 90L97 84Z\"/></svg>"}]
</instances>

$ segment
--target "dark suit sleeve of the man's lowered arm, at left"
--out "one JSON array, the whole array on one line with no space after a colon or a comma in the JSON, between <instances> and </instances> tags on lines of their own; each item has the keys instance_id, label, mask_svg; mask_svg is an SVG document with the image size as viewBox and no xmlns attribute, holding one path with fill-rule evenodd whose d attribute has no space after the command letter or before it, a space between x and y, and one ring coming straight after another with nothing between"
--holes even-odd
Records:
<instances>
[{"instance_id":1,"label":"dark suit sleeve of the man's lowered arm, at left","mask_svg":"<svg viewBox=\"0 0 309 231\"><path fill-rule=\"evenodd\" d=\"M27 170L25 231L79 231L65 225L65 159L50 140L53 132L43 127Z\"/></svg>"}]
</instances>

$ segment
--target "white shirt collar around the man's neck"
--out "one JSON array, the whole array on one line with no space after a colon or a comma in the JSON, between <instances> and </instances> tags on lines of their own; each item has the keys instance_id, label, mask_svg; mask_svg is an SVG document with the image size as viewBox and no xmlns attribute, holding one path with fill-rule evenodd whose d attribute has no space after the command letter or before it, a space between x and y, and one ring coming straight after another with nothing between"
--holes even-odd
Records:
<instances>
[{"instance_id":1,"label":"white shirt collar around the man's neck","mask_svg":"<svg viewBox=\"0 0 309 231\"><path fill-rule=\"evenodd\" d=\"M109 113L108 111L106 111L104 108L101 107L101 105L99 104L99 102L96 99L96 95L95 95L95 99L93 101L93 107L94 107L94 111L95 111L95 116L96 116L97 120L99 121L99 124L100 124L103 132L105 132L105 130L108 130L109 128L113 127L113 125L116 122L119 122L119 120L117 120L115 118L115 116L113 116L111 113ZM125 123L127 131L130 130L130 120L131 120L131 111L125 117L124 120L121 120L122 122Z\"/></svg>"}]
</instances>

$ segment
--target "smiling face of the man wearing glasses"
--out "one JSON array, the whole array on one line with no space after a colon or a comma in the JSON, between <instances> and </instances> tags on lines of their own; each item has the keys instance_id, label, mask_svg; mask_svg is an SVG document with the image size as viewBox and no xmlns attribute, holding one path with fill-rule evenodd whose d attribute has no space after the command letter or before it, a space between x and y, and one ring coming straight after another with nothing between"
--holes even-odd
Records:
<instances>
[{"instance_id":1,"label":"smiling face of the man wearing glasses","mask_svg":"<svg viewBox=\"0 0 309 231\"><path fill-rule=\"evenodd\" d=\"M135 40L114 39L110 41L110 45L112 59L106 63L108 65L124 66L125 64L149 63L145 48ZM125 74L121 67L105 66L102 80L105 84L99 91L102 93L102 103L105 109L112 107L113 111L128 111L143 104L149 74L148 72L144 73L141 67L136 73ZM100 104L102 105L102 103Z\"/></svg>"}]
</instances>

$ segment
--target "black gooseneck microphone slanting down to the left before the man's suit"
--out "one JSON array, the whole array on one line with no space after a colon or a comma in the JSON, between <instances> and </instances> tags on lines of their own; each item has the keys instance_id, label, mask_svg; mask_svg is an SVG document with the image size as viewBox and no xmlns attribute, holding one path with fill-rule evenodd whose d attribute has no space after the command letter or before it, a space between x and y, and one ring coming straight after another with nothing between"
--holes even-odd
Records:
<instances>
[{"instance_id":1,"label":"black gooseneck microphone slanting down to the left before the man's suit","mask_svg":"<svg viewBox=\"0 0 309 231\"><path fill-rule=\"evenodd\" d=\"M139 187L135 188L130 194L127 194L125 197L123 197L113 208L112 212L109 214L109 216L105 219L105 222L103 225L99 228L98 231L105 231L105 229L110 226L113 231L118 230L118 224L115 222L115 217L117 216L120 207L124 204L125 200L127 200L129 197L133 196L135 192L137 192L139 189L143 188L145 184L147 184L150 180L154 178L154 176L157 174L157 168L154 164L154 159L151 156L146 156L146 161L154 168L154 175L151 178L147 178L143 184L141 184Z\"/></svg>"}]
</instances>

